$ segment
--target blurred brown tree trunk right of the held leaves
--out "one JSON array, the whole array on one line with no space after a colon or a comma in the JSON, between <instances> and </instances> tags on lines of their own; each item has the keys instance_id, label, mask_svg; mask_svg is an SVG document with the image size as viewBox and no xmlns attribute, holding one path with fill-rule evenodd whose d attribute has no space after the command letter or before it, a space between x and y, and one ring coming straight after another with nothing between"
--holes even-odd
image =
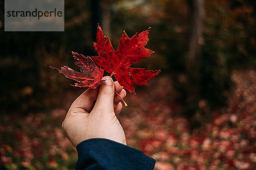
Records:
<instances>
[{"instance_id":1,"label":"blurred brown tree trunk right of the held leaves","mask_svg":"<svg viewBox=\"0 0 256 170\"><path fill-rule=\"evenodd\" d=\"M186 73L188 76L187 104L195 114L200 98L201 81L201 45L204 44L204 0L188 0L190 7L189 49L186 58Z\"/></svg>"}]
</instances>

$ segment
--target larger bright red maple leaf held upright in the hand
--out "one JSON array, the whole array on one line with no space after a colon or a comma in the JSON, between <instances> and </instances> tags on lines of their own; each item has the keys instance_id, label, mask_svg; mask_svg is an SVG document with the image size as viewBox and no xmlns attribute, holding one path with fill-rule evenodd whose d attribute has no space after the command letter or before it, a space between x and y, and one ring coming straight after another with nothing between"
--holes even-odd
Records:
<instances>
[{"instance_id":1,"label":"larger bright red maple leaf held upright in the hand","mask_svg":"<svg viewBox=\"0 0 256 170\"><path fill-rule=\"evenodd\" d=\"M98 25L96 41L93 43L99 57L92 57L99 67L111 76L114 75L120 85L135 93L133 84L148 85L147 80L154 78L160 71L146 71L145 68L130 68L132 64L145 59L154 51L144 48L148 42L148 28L140 34L129 38L125 31L119 42L117 51L114 51L111 41L105 37L104 31Z\"/></svg>"}]
</instances>

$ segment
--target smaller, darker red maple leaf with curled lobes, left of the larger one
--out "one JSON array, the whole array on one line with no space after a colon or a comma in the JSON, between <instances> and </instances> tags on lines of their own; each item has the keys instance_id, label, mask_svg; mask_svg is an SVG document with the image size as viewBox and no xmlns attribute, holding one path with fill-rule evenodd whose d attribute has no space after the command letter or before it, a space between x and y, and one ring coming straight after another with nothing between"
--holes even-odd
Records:
<instances>
[{"instance_id":1,"label":"smaller, darker red maple leaf with curled lobes, left of the larger one","mask_svg":"<svg viewBox=\"0 0 256 170\"><path fill-rule=\"evenodd\" d=\"M59 71L69 79L79 82L73 85L75 87L96 88L98 85L100 85L104 70L99 68L90 57L84 57L82 54L74 52L72 52L72 54L76 60L75 64L80 68L81 72L74 71L68 66L61 67L61 70L58 70L52 66L50 66L50 68Z\"/></svg>"}]
</instances>

